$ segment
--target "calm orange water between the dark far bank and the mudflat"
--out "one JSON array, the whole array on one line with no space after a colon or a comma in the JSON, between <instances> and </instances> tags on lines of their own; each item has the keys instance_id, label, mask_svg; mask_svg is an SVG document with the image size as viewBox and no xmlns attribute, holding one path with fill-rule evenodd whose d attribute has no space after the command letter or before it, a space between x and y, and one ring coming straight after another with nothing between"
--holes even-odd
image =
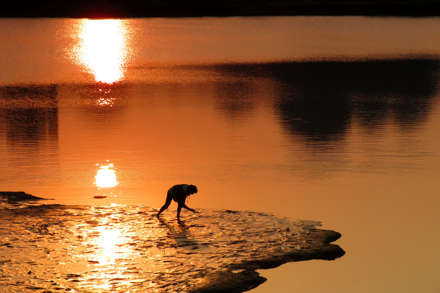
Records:
<instances>
[{"instance_id":1,"label":"calm orange water between the dark far bank and the mudflat","mask_svg":"<svg viewBox=\"0 0 440 293\"><path fill-rule=\"evenodd\" d=\"M439 18L0 27L1 190L159 208L195 184L192 208L342 233L255 293L439 292Z\"/></svg>"}]
</instances>

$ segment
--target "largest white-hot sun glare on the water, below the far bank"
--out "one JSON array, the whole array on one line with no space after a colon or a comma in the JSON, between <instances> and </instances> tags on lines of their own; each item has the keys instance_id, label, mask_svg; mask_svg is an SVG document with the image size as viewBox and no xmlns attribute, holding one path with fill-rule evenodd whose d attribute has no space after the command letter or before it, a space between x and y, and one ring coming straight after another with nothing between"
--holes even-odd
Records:
<instances>
[{"instance_id":1,"label":"largest white-hot sun glare on the water, below the far bank","mask_svg":"<svg viewBox=\"0 0 440 293\"><path fill-rule=\"evenodd\" d=\"M95 82L112 84L124 77L127 32L122 20L84 20L76 59Z\"/></svg>"}]
</instances>

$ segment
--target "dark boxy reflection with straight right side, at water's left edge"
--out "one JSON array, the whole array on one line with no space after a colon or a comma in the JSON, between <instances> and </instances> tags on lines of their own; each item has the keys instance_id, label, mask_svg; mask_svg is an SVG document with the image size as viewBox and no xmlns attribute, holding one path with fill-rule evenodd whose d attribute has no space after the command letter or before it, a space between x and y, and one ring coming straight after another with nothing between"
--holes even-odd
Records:
<instances>
[{"instance_id":1,"label":"dark boxy reflection with straight right side, at water's left edge","mask_svg":"<svg viewBox=\"0 0 440 293\"><path fill-rule=\"evenodd\" d=\"M1 87L0 103L1 128L11 145L58 142L55 85Z\"/></svg>"}]
</instances>

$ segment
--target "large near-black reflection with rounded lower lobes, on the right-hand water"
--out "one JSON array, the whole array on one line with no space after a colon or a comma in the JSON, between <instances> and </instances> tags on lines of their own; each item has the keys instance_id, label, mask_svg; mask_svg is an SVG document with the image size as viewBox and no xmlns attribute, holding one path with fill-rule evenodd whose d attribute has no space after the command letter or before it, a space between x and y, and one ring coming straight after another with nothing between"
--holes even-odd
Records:
<instances>
[{"instance_id":1,"label":"large near-black reflection with rounded lower lobes, on the right-hand water","mask_svg":"<svg viewBox=\"0 0 440 293\"><path fill-rule=\"evenodd\" d=\"M437 61L279 63L272 76L286 86L276 102L289 133L328 141L350 121L374 128L392 118L401 127L426 119L437 92Z\"/></svg>"}]
</instances>

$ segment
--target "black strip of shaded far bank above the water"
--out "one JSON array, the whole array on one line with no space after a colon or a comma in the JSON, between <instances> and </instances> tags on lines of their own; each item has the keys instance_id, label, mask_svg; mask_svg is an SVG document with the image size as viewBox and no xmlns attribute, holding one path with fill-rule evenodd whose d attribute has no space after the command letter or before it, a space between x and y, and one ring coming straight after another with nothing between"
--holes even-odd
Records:
<instances>
[{"instance_id":1,"label":"black strip of shaded far bank above the water","mask_svg":"<svg viewBox=\"0 0 440 293\"><path fill-rule=\"evenodd\" d=\"M438 16L439 0L0 0L0 17Z\"/></svg>"}]
</instances>

